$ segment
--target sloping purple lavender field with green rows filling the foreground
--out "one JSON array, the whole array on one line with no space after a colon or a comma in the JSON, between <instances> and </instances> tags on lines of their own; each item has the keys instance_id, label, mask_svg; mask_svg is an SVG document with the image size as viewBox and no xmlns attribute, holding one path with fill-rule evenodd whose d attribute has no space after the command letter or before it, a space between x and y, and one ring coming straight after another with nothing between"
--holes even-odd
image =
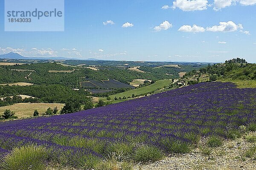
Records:
<instances>
[{"instance_id":1,"label":"sloping purple lavender field with green rows filling the foreground","mask_svg":"<svg viewBox=\"0 0 256 170\"><path fill-rule=\"evenodd\" d=\"M1 122L0 153L37 144L50 153L46 163L94 168L110 153L155 161L190 152L201 137L235 138L255 125L256 89L205 82L78 113ZM148 148L151 155L141 156Z\"/></svg>"}]
</instances>

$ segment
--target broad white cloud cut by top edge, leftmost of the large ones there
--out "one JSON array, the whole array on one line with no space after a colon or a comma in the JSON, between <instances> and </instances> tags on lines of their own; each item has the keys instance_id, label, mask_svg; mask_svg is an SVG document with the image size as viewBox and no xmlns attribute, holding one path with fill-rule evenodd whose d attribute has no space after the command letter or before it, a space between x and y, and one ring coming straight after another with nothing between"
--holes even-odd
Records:
<instances>
[{"instance_id":1,"label":"broad white cloud cut by top edge, leftmost of the large ones there","mask_svg":"<svg viewBox=\"0 0 256 170\"><path fill-rule=\"evenodd\" d=\"M176 0L172 8L180 8L182 11L202 11L208 6L207 0Z\"/></svg>"}]
</instances>

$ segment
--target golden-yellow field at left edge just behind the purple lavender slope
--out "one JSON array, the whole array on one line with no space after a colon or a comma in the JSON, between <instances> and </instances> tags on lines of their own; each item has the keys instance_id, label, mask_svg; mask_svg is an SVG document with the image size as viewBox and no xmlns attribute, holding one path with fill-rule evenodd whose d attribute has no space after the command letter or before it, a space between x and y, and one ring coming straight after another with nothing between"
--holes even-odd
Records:
<instances>
[{"instance_id":1,"label":"golden-yellow field at left edge just behind the purple lavender slope","mask_svg":"<svg viewBox=\"0 0 256 170\"><path fill-rule=\"evenodd\" d=\"M14 111L18 118L27 118L33 116L35 110L38 110L39 115L42 115L48 108L57 107L60 111L63 106L64 104L59 103L17 103L11 106L0 107L0 114L2 115L6 109L9 109Z\"/></svg>"}]
</instances>

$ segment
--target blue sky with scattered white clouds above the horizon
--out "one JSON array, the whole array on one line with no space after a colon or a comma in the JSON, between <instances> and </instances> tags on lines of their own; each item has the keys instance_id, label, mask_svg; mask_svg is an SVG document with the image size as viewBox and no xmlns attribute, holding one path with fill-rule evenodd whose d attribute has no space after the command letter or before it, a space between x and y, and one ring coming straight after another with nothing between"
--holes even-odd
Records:
<instances>
[{"instance_id":1,"label":"blue sky with scattered white clouds above the horizon","mask_svg":"<svg viewBox=\"0 0 256 170\"><path fill-rule=\"evenodd\" d=\"M65 31L6 32L0 0L0 54L256 62L255 16L256 0L65 0Z\"/></svg>"}]
</instances>

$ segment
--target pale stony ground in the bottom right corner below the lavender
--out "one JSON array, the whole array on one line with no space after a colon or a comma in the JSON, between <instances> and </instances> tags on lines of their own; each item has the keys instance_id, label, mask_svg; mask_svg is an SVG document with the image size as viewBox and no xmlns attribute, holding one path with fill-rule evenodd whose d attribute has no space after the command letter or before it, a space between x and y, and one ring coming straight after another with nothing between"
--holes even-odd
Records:
<instances>
[{"instance_id":1,"label":"pale stony ground in the bottom right corner below the lavender","mask_svg":"<svg viewBox=\"0 0 256 170\"><path fill-rule=\"evenodd\" d=\"M134 170L256 170L256 160L244 156L246 150L255 146L255 143L247 142L248 135L256 136L256 133L225 140L221 147L212 150L202 140L192 153L169 155L151 164L137 164Z\"/></svg>"}]
</instances>

